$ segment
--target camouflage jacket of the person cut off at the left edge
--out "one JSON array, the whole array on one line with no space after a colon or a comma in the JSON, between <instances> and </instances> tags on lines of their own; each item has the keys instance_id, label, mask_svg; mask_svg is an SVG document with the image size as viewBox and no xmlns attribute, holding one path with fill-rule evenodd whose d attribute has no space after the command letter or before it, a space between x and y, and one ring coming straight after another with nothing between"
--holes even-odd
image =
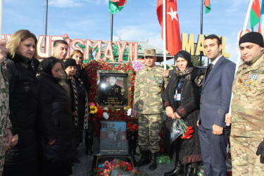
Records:
<instances>
[{"instance_id":1,"label":"camouflage jacket of the person cut off at the left edge","mask_svg":"<svg viewBox=\"0 0 264 176\"><path fill-rule=\"evenodd\" d=\"M11 128L11 121L9 119L9 92L8 81L5 77L6 63L1 63L0 71L0 137L4 137L6 127Z\"/></svg>"}]
</instances>

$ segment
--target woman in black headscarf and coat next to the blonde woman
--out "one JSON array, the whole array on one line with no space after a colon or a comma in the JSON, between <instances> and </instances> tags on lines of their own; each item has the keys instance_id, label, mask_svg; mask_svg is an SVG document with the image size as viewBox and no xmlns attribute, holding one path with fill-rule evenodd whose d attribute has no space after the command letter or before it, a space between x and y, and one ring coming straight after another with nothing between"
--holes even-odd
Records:
<instances>
[{"instance_id":1,"label":"woman in black headscarf and coat next to the blonde woman","mask_svg":"<svg viewBox=\"0 0 264 176\"><path fill-rule=\"evenodd\" d=\"M39 175L70 175L74 151L73 120L68 93L58 84L61 63L51 57L45 58L42 66L42 72L37 77L40 85Z\"/></svg>"}]
</instances>

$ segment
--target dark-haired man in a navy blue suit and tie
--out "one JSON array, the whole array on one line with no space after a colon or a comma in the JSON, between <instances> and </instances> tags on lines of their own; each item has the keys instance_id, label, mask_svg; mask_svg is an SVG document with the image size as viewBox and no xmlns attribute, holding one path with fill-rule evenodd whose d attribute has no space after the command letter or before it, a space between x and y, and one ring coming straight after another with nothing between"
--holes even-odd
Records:
<instances>
[{"instance_id":1,"label":"dark-haired man in a navy blue suit and tie","mask_svg":"<svg viewBox=\"0 0 264 176\"><path fill-rule=\"evenodd\" d=\"M208 35L203 44L210 59L201 91L199 139L205 175L227 175L227 134L225 113L228 113L236 65L222 56L221 40Z\"/></svg>"}]
</instances>

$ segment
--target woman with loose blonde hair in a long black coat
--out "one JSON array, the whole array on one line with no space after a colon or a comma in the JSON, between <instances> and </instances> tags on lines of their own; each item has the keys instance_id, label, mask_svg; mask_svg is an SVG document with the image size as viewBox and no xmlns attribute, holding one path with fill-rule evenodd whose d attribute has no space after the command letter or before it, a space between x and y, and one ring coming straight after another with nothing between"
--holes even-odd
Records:
<instances>
[{"instance_id":1,"label":"woman with loose blonde hair in a long black coat","mask_svg":"<svg viewBox=\"0 0 264 176\"><path fill-rule=\"evenodd\" d=\"M8 39L6 77L9 83L10 120L13 139L6 151L3 175L37 175L37 106L39 61L37 38L28 30L18 30Z\"/></svg>"}]
</instances>

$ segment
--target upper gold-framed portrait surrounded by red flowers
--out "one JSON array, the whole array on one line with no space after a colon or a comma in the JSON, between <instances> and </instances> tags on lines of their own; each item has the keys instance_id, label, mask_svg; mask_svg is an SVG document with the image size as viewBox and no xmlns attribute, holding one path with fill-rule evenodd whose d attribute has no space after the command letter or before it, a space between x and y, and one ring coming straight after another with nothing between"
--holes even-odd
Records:
<instances>
[{"instance_id":1,"label":"upper gold-framed portrait surrounded by red flowers","mask_svg":"<svg viewBox=\"0 0 264 176\"><path fill-rule=\"evenodd\" d=\"M130 104L130 75L120 70L98 70L97 102L99 106L122 108Z\"/></svg>"}]
</instances>

